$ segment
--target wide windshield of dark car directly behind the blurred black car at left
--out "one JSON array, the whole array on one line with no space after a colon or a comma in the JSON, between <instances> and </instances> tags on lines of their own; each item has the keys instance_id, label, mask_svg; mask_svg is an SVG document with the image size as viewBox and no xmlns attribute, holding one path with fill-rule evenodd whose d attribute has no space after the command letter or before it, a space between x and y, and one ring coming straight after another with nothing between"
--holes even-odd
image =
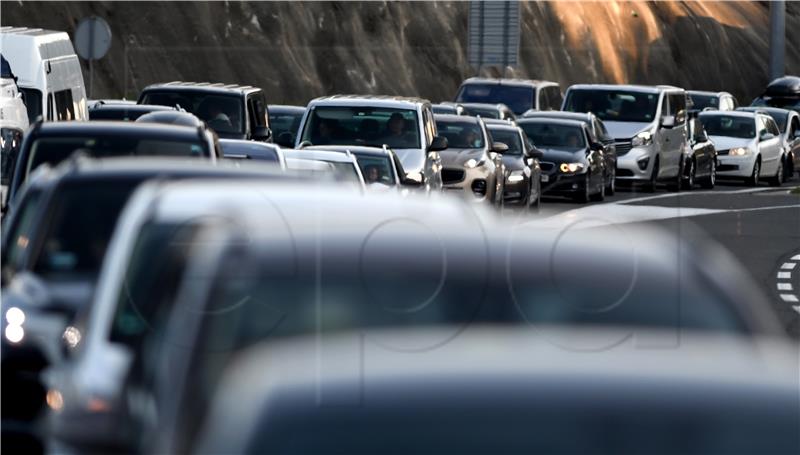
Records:
<instances>
[{"instance_id":1,"label":"wide windshield of dark car directly behind the blurred black car at left","mask_svg":"<svg viewBox=\"0 0 800 455\"><path fill-rule=\"evenodd\" d=\"M40 137L34 141L25 166L23 179L42 164L54 166L75 152L95 158L118 156L171 156L201 158L209 156L207 145L200 137L164 138L137 134L135 136L95 135L86 137Z\"/></svg>"}]
</instances>

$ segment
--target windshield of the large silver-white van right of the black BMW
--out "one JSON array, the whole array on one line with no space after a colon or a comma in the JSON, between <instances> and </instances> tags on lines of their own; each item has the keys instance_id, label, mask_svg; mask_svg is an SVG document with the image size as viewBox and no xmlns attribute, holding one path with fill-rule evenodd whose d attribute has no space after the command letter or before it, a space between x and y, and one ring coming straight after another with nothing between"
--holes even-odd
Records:
<instances>
[{"instance_id":1,"label":"windshield of the large silver-white van right of the black BMW","mask_svg":"<svg viewBox=\"0 0 800 455\"><path fill-rule=\"evenodd\" d=\"M656 117L658 94L626 90L571 89L566 111L591 112L608 122L650 123Z\"/></svg>"}]
</instances>

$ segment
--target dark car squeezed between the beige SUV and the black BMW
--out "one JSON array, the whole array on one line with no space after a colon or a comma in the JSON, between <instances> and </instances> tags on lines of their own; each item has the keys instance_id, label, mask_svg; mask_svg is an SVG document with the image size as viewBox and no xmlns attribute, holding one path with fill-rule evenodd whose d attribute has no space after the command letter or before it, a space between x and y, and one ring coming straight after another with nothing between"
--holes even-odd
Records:
<instances>
[{"instance_id":1,"label":"dark car squeezed between the beige SUV and the black BMW","mask_svg":"<svg viewBox=\"0 0 800 455\"><path fill-rule=\"evenodd\" d=\"M513 123L487 122L492 142L508 146L503 153L506 182L503 185L505 205L539 210L542 201L542 170L538 158L544 155L528 141L528 136Z\"/></svg>"}]
</instances>

